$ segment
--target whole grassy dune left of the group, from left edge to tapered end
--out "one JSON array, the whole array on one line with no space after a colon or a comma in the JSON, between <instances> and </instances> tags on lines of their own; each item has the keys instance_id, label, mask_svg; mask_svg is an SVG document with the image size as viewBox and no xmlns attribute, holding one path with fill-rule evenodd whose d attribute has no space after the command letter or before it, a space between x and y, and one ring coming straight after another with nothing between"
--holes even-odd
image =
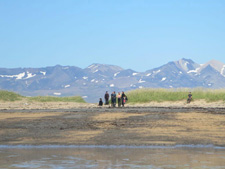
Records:
<instances>
[{"instance_id":1,"label":"whole grassy dune left of the group, from left edge to tapered end","mask_svg":"<svg viewBox=\"0 0 225 169\"><path fill-rule=\"evenodd\" d=\"M26 99L27 101L37 101L37 102L77 102L85 103L84 99L80 96L71 97L55 97L55 96L36 96L36 97L25 97L14 92L0 90L0 100L1 101L18 101Z\"/></svg>"}]
</instances>

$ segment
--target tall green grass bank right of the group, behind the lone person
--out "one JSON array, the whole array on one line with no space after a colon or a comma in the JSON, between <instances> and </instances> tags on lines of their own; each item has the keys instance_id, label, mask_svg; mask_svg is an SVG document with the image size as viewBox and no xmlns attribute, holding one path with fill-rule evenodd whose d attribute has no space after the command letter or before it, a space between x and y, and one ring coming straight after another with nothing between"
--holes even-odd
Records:
<instances>
[{"instance_id":1,"label":"tall green grass bank right of the group, behind the lone person","mask_svg":"<svg viewBox=\"0 0 225 169\"><path fill-rule=\"evenodd\" d=\"M203 88L179 88L179 89L137 89L127 92L129 103L147 103L151 101L185 101L188 93L192 92L194 100L205 100L207 102L225 101L225 89L203 89Z\"/></svg>"}]
</instances>

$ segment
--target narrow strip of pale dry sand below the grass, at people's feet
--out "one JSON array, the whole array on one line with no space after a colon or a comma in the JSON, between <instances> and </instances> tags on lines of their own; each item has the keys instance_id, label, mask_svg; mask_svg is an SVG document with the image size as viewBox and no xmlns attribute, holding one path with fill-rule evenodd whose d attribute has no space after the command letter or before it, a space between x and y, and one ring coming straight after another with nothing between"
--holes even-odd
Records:
<instances>
[{"instance_id":1,"label":"narrow strip of pale dry sand below the grass, at people's feet","mask_svg":"<svg viewBox=\"0 0 225 169\"><path fill-rule=\"evenodd\" d=\"M117 105L116 105L117 106ZM27 101L20 100L20 101L1 101L0 102L0 110L5 109L15 109L15 110L29 110L29 109L78 109L78 108L108 108L109 105L104 105L103 107L98 107L98 104L94 103L76 103L76 102L38 102L38 101ZM224 108L225 109L225 102L224 101L217 101L217 102L206 102L205 100L196 100L192 101L191 103L187 104L186 101L164 101L164 102L148 102L148 103L127 103L125 104L125 108L129 107L158 107L158 108ZM118 108L118 107L116 107ZM122 107L121 107L122 108Z\"/></svg>"}]
</instances>

